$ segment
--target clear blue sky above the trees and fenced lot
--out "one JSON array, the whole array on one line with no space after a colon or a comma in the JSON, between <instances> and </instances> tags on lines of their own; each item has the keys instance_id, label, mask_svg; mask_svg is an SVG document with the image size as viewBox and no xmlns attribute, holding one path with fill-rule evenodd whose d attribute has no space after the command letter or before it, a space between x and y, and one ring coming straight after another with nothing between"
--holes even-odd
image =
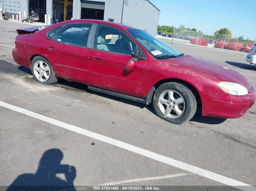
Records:
<instances>
[{"instance_id":1,"label":"clear blue sky above the trees and fenced lot","mask_svg":"<svg viewBox=\"0 0 256 191\"><path fill-rule=\"evenodd\" d=\"M234 36L256 38L255 0L150 0L160 9L159 25L214 33L228 28Z\"/></svg>"}]
</instances>

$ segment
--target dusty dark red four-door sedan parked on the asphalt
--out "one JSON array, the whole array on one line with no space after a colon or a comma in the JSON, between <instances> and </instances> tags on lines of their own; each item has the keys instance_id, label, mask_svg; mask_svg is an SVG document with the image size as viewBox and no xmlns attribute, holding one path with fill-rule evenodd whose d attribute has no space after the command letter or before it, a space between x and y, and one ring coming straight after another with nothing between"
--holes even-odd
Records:
<instances>
[{"instance_id":1,"label":"dusty dark red four-door sedan parked on the asphalt","mask_svg":"<svg viewBox=\"0 0 256 191\"><path fill-rule=\"evenodd\" d=\"M70 20L18 29L14 60L35 80L59 78L106 94L153 103L171 123L203 116L238 118L254 104L247 78L213 62L179 53L143 30L100 20Z\"/></svg>"}]
</instances>

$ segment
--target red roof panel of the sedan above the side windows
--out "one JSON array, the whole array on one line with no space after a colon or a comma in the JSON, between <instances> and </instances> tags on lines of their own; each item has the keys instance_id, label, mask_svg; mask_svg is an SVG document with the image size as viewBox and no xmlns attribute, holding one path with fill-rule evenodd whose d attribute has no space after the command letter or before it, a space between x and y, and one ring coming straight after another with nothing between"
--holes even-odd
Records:
<instances>
[{"instance_id":1,"label":"red roof panel of the sedan above the side windows","mask_svg":"<svg viewBox=\"0 0 256 191\"><path fill-rule=\"evenodd\" d=\"M110 25L113 27L120 28L122 30L126 29L137 29L135 27L131 27L125 24L120 24L120 23L115 23L115 22L110 22L110 21L102 21L102 20L96 20L96 19L73 19L73 20L68 20L68 21L63 21L61 22L62 24L71 24L71 23L95 23L95 24L106 24Z\"/></svg>"}]
</instances>

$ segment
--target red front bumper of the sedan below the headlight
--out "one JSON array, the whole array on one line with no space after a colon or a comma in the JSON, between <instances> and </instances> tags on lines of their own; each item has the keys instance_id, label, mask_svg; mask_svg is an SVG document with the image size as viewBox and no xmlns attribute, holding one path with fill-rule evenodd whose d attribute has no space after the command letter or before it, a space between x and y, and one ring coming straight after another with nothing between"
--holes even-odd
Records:
<instances>
[{"instance_id":1,"label":"red front bumper of the sedan below the headlight","mask_svg":"<svg viewBox=\"0 0 256 191\"><path fill-rule=\"evenodd\" d=\"M202 116L239 118L246 114L256 100L256 92L251 87L245 96L224 96L199 92L202 100Z\"/></svg>"}]
</instances>

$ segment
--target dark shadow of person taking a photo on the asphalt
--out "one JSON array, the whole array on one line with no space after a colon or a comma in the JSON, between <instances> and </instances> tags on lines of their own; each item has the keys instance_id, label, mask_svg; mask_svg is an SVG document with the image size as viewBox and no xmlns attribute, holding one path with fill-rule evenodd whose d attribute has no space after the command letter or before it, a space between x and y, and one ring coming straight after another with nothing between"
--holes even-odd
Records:
<instances>
[{"instance_id":1,"label":"dark shadow of person taking a photo on the asphalt","mask_svg":"<svg viewBox=\"0 0 256 191\"><path fill-rule=\"evenodd\" d=\"M68 164L60 164L63 153L59 149L45 151L40 159L38 170L35 174L22 174L13 181L6 191L43 191L71 189L75 191L74 180L76 169ZM56 175L65 174L66 180Z\"/></svg>"}]
</instances>

